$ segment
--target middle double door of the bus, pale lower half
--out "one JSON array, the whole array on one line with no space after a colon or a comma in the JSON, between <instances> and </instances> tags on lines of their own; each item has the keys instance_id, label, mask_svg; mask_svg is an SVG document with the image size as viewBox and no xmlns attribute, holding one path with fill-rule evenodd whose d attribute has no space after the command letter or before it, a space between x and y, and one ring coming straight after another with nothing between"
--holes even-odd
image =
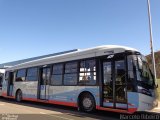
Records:
<instances>
[{"instance_id":1,"label":"middle double door of the bus, pale lower half","mask_svg":"<svg viewBox=\"0 0 160 120\"><path fill-rule=\"evenodd\" d=\"M50 67L40 68L39 98L42 100L49 98L49 78Z\"/></svg>"}]
</instances>

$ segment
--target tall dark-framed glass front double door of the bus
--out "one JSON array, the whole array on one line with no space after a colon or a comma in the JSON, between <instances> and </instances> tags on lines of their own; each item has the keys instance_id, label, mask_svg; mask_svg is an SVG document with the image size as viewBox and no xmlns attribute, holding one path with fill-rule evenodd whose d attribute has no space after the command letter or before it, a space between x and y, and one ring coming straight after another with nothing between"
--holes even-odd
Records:
<instances>
[{"instance_id":1,"label":"tall dark-framed glass front double door of the bus","mask_svg":"<svg viewBox=\"0 0 160 120\"><path fill-rule=\"evenodd\" d=\"M126 62L123 55L102 60L102 106L127 109Z\"/></svg>"}]
</instances>

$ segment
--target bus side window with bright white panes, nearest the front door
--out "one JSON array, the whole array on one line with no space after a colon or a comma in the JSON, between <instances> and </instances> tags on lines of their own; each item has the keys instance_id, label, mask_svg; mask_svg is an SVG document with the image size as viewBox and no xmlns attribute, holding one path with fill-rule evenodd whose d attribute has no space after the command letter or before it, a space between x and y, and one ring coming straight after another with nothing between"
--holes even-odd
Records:
<instances>
[{"instance_id":1,"label":"bus side window with bright white panes, nearest the front door","mask_svg":"<svg viewBox=\"0 0 160 120\"><path fill-rule=\"evenodd\" d=\"M81 61L79 84L95 85L96 84L96 62L95 60Z\"/></svg>"}]
</instances>

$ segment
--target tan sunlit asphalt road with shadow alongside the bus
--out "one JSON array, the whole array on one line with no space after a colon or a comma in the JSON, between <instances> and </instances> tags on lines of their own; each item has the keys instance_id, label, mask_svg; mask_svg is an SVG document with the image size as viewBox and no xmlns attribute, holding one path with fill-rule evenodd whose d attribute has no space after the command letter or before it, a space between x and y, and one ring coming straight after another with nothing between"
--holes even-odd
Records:
<instances>
[{"instance_id":1,"label":"tan sunlit asphalt road with shadow alongside the bus","mask_svg":"<svg viewBox=\"0 0 160 120\"><path fill-rule=\"evenodd\" d=\"M140 113L136 115L140 117ZM0 98L0 120L119 120L126 117L127 115L112 112L96 111L88 114L71 107L27 101L17 103Z\"/></svg>"}]
</instances>

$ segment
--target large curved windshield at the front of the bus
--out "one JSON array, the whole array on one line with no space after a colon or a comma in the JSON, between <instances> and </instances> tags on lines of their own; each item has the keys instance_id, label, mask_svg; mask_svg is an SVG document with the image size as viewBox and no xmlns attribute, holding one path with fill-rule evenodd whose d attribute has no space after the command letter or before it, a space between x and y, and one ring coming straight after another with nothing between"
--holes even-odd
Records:
<instances>
[{"instance_id":1,"label":"large curved windshield at the front of the bus","mask_svg":"<svg viewBox=\"0 0 160 120\"><path fill-rule=\"evenodd\" d=\"M137 73L137 80L143 86L152 87L154 86L154 76L149 68L147 60L142 55L137 55L137 62L138 62L138 73Z\"/></svg>"}]
</instances>

